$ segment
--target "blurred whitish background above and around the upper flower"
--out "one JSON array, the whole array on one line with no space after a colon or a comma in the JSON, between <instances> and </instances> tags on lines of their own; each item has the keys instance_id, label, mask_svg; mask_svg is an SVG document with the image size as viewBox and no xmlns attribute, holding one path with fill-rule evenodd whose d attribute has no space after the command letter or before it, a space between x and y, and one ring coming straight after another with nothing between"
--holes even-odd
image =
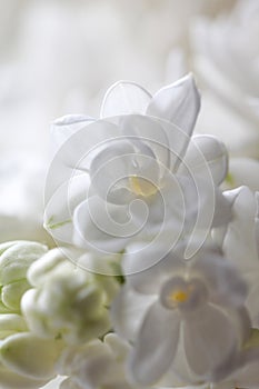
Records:
<instances>
[{"instance_id":1,"label":"blurred whitish background above and around the upper flower","mask_svg":"<svg viewBox=\"0 0 259 389\"><path fill-rule=\"evenodd\" d=\"M258 37L258 0L0 0L0 241L50 242L50 123L98 118L121 79L153 93L192 71L196 131L230 151L226 188L259 190Z\"/></svg>"}]
</instances>

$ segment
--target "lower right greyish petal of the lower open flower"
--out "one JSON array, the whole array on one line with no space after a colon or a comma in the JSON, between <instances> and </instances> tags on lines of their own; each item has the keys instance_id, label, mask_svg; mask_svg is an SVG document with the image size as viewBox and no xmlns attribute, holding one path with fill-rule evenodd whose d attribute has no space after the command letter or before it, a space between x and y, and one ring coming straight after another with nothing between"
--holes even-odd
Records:
<instances>
[{"instance_id":1,"label":"lower right greyish petal of the lower open flower","mask_svg":"<svg viewBox=\"0 0 259 389\"><path fill-rule=\"evenodd\" d=\"M212 306L207 305L186 320L183 331L188 362L200 376L211 373L238 346L231 321Z\"/></svg>"}]
</instances>

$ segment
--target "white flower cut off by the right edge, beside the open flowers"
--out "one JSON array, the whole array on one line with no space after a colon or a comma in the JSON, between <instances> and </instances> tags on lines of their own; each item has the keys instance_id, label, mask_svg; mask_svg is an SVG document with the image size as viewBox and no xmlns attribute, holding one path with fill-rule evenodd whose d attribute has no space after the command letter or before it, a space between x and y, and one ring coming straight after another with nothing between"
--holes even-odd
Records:
<instances>
[{"instance_id":1,"label":"white flower cut off by the right edge, beside the open flowers","mask_svg":"<svg viewBox=\"0 0 259 389\"><path fill-rule=\"evenodd\" d=\"M259 328L259 218L258 193L241 187L226 192L232 199L232 220L216 239L248 285L247 307L252 325Z\"/></svg>"}]
</instances>

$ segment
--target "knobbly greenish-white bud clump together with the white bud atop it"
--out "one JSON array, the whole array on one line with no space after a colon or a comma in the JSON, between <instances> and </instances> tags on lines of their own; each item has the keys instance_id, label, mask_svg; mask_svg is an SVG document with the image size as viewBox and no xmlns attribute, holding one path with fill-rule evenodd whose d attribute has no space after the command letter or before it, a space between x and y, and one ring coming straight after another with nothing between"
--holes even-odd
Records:
<instances>
[{"instance_id":1,"label":"knobbly greenish-white bud clump together with the white bud atop it","mask_svg":"<svg viewBox=\"0 0 259 389\"><path fill-rule=\"evenodd\" d=\"M94 275L77 268L61 250L53 249L34 262L28 280L33 288L23 295L21 308L29 329L39 337L81 343L110 329L107 281L102 288ZM109 292L112 282L116 279L110 279Z\"/></svg>"}]
</instances>

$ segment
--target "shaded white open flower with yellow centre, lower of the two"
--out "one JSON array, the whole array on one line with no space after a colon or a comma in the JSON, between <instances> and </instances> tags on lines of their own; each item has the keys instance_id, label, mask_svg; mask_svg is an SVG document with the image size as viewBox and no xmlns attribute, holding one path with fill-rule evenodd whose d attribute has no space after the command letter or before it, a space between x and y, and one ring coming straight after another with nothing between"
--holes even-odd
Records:
<instances>
[{"instance_id":1,"label":"shaded white open flower with yellow centre, lower of the two","mask_svg":"<svg viewBox=\"0 0 259 389\"><path fill-rule=\"evenodd\" d=\"M150 257L158 252L141 252L137 246L123 263L130 276L111 318L116 331L133 342L129 372L139 383L221 379L249 337L247 287L236 269L215 248L202 248L189 261L182 252L150 268Z\"/></svg>"}]
</instances>

